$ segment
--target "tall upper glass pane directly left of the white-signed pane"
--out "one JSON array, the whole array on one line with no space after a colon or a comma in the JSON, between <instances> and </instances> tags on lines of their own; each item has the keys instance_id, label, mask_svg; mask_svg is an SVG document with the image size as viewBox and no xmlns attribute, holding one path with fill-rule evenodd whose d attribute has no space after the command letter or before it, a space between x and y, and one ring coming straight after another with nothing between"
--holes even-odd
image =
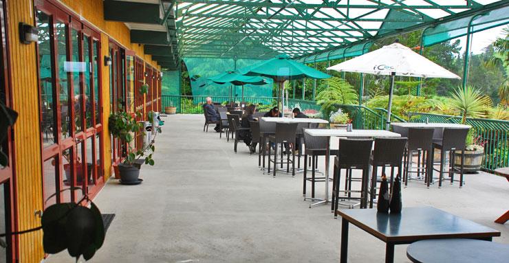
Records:
<instances>
[{"instance_id":1,"label":"tall upper glass pane directly left of the white-signed pane","mask_svg":"<svg viewBox=\"0 0 509 263\"><path fill-rule=\"evenodd\" d=\"M56 41L58 43L58 98L60 100L60 115L61 115L61 138L65 139L71 134L71 108L69 102L71 102L71 93L69 93L71 82L69 81L69 72L65 71L65 61L67 61L67 28L65 23L56 22Z\"/></svg>"}]
</instances>

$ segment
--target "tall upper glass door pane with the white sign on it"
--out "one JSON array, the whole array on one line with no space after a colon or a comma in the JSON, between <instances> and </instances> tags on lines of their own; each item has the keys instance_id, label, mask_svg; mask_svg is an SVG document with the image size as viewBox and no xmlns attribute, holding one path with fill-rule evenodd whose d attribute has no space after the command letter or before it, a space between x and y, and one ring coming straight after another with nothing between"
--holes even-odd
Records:
<instances>
[{"instance_id":1,"label":"tall upper glass door pane with the white sign on it","mask_svg":"<svg viewBox=\"0 0 509 263\"><path fill-rule=\"evenodd\" d=\"M81 105L83 105L83 97L80 89L80 32L72 29L72 62L69 63L68 71L72 72L72 80L74 84L74 127L76 133L83 130ZM83 70L83 68L81 68Z\"/></svg>"}]
</instances>

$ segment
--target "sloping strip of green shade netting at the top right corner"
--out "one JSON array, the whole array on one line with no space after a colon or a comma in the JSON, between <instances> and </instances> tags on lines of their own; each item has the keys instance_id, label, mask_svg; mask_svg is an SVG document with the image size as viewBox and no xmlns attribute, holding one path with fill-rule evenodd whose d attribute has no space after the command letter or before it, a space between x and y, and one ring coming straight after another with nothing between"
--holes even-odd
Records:
<instances>
[{"instance_id":1,"label":"sloping strip of green shade netting at the top right corner","mask_svg":"<svg viewBox=\"0 0 509 263\"><path fill-rule=\"evenodd\" d=\"M453 38L465 36L468 31L468 23L472 21L472 27L470 28L472 33L479 32L482 30L488 30L492 27L505 25L509 23L509 7L492 10L484 15L480 16L466 16L462 19L449 21L437 25L436 27L430 27L424 32L422 39L423 45L429 46L436 43L442 43L449 41Z\"/></svg>"}]
</instances>

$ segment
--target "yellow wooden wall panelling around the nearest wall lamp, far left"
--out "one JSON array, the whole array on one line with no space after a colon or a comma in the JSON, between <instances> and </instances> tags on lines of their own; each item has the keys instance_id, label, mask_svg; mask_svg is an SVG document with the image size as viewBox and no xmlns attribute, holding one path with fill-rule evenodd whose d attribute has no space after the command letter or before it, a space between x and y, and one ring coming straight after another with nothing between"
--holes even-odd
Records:
<instances>
[{"instance_id":1,"label":"yellow wooden wall panelling around the nearest wall lamp, far left","mask_svg":"<svg viewBox=\"0 0 509 263\"><path fill-rule=\"evenodd\" d=\"M43 209L36 44L21 44L18 33L19 22L34 25L31 8L31 0L7 1L12 108L19 113L14 125L19 230L39 227L41 220L34 211ZM19 236L19 262L41 261L42 238L42 231Z\"/></svg>"}]
</instances>

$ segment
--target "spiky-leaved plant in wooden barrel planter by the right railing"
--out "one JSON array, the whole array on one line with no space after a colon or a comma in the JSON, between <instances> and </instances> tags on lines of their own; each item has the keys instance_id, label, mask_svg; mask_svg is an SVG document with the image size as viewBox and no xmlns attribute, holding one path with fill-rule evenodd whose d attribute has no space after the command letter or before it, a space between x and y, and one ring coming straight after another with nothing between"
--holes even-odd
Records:
<instances>
[{"instance_id":1,"label":"spiky-leaved plant in wooden barrel planter by the right railing","mask_svg":"<svg viewBox=\"0 0 509 263\"><path fill-rule=\"evenodd\" d=\"M490 98L482 95L481 91L473 86L458 87L451 94L451 97L453 108L462 115L462 124L466 124L467 117L486 117L486 108L491 105ZM483 161L484 144L486 144L486 141L480 136L474 137L473 133L474 130L470 129L466 136L466 150L464 152L465 172L479 171ZM462 163L462 153L455 152L454 158L455 169L459 169Z\"/></svg>"}]
</instances>

